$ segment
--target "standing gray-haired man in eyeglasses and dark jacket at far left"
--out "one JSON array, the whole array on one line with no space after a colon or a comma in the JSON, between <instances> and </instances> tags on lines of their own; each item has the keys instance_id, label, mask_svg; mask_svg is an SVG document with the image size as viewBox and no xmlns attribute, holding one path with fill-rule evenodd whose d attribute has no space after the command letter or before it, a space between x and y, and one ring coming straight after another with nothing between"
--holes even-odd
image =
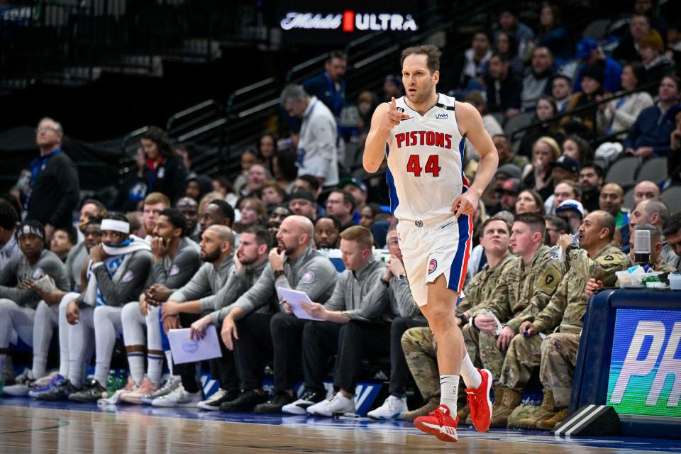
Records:
<instances>
[{"instance_id":1,"label":"standing gray-haired man in eyeglasses and dark jacket at far left","mask_svg":"<svg viewBox=\"0 0 681 454\"><path fill-rule=\"evenodd\" d=\"M24 202L26 220L40 221L49 241L55 228L70 227L80 187L73 161L62 153L64 131L52 118L43 118L35 131L40 156L31 162L31 191Z\"/></svg>"}]
</instances>

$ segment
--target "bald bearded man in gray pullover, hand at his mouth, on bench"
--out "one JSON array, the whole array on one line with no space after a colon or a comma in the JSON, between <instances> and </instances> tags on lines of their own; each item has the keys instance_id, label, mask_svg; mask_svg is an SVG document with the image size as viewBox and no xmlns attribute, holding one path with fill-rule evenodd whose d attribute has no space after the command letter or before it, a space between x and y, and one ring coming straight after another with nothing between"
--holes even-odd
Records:
<instances>
[{"instance_id":1,"label":"bald bearded man in gray pullover, hand at his mouth, on bench","mask_svg":"<svg viewBox=\"0 0 681 454\"><path fill-rule=\"evenodd\" d=\"M278 247L270 251L269 264L258 282L229 307L221 334L228 348L236 347L244 392L222 404L222 411L249 411L260 403L255 411L279 412L293 401L293 386L302 375L301 338L307 321L272 307L270 301L278 288L306 292L313 301L331 297L338 273L328 258L311 248L313 238L314 226L308 218L285 218L277 233ZM262 389L262 361L270 354L275 399L262 403L267 395Z\"/></svg>"}]
</instances>

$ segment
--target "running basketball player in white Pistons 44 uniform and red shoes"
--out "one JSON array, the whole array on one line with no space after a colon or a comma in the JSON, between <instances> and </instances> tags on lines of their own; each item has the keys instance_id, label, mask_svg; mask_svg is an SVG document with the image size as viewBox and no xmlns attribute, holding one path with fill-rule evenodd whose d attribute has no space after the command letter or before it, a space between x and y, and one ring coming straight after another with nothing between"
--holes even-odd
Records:
<instances>
[{"instance_id":1,"label":"running basketball player in white Pistons 44 uniform and red shoes","mask_svg":"<svg viewBox=\"0 0 681 454\"><path fill-rule=\"evenodd\" d=\"M472 216L499 157L477 109L436 92L440 55L433 45L402 52L406 96L377 107L363 164L373 173L387 158L391 210L399 219L409 287L438 342L441 404L414 423L442 441L457 441L459 375L475 428L487 431L492 421L492 374L472 365L455 309L470 256ZM463 175L465 138L480 153L472 185Z\"/></svg>"}]
</instances>

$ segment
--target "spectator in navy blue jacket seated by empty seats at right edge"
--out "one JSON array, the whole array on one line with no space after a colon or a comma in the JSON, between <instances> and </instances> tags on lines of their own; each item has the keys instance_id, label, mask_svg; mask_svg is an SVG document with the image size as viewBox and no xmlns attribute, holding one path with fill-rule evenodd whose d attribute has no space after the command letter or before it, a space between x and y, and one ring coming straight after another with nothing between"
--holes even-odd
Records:
<instances>
[{"instance_id":1,"label":"spectator in navy blue jacket seated by empty seats at right edge","mask_svg":"<svg viewBox=\"0 0 681 454\"><path fill-rule=\"evenodd\" d=\"M646 159L650 156L666 156L671 133L675 128L674 116L679 104L679 79L665 76L658 89L660 100L654 106L641 111L629 134L624 139L624 152Z\"/></svg>"}]
</instances>

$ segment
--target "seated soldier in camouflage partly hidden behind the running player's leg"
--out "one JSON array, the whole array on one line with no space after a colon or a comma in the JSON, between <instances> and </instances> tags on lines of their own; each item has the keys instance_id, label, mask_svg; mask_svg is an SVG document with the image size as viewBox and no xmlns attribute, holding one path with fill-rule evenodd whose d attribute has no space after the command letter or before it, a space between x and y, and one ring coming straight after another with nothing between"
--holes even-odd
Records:
<instances>
[{"instance_id":1,"label":"seated soldier in camouflage partly hidden behind the running player's leg","mask_svg":"<svg viewBox=\"0 0 681 454\"><path fill-rule=\"evenodd\" d=\"M457 308L457 323L460 323L460 326L467 323L468 318L482 301L487 301L492 296L495 283L513 259L511 253L509 253L511 227L505 218L500 216L488 218L482 224L480 231L480 244L485 248L487 265L464 288L463 294L465 296L461 299ZM465 333L464 339L468 348L469 340ZM428 414L428 412L436 409L439 404L440 381L433 333L427 327L407 330L402 336L402 350L404 350L406 362L409 365L409 370L411 370L411 375L414 376L416 386L419 387L419 391L421 391L426 402L421 408L408 411L402 415L404 419L413 420L417 416ZM470 355L476 367L480 366L477 345L475 350L468 351L468 355ZM460 402L458 404L458 408L463 411L467 410L464 388L464 386L459 387ZM467 416L467 412L463 414L464 418L465 416Z\"/></svg>"}]
</instances>

